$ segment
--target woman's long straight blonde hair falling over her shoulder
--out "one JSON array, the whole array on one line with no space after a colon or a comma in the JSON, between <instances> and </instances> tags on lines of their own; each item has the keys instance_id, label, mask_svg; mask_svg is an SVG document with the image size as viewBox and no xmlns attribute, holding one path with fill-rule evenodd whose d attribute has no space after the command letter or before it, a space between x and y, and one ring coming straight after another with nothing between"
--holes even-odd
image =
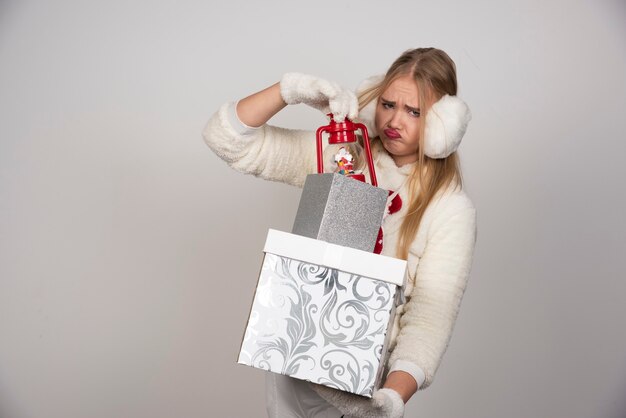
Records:
<instances>
[{"instance_id":1,"label":"woman's long straight blonde hair falling over her shoulder","mask_svg":"<svg viewBox=\"0 0 626 418\"><path fill-rule=\"evenodd\" d=\"M422 123L417 164L409 174L407 183L409 208L402 221L396 253L398 258L404 260L408 258L409 248L417 234L424 213L438 192L450 186L463 187L460 162L456 152L441 159L424 155L425 117L428 110L442 96L446 94L454 96L457 93L456 66L448 54L436 48L405 51L391 64L380 84L366 89L359 95L360 108L362 109L369 102L380 97L394 80L407 74L410 74L417 84ZM380 142L380 138L372 139L372 142L376 141Z\"/></svg>"}]
</instances>

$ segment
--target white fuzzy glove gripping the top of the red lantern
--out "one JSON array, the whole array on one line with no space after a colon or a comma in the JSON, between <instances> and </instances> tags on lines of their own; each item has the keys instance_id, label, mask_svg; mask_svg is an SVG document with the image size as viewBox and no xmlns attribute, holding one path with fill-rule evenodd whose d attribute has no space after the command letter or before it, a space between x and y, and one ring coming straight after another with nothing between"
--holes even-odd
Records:
<instances>
[{"instance_id":1,"label":"white fuzzy glove gripping the top of the red lantern","mask_svg":"<svg viewBox=\"0 0 626 418\"><path fill-rule=\"evenodd\" d=\"M359 101L352 91L308 74L283 75L280 95L287 104L304 103L323 113L332 113L337 122L343 122L346 116L354 120L359 114Z\"/></svg>"}]
</instances>

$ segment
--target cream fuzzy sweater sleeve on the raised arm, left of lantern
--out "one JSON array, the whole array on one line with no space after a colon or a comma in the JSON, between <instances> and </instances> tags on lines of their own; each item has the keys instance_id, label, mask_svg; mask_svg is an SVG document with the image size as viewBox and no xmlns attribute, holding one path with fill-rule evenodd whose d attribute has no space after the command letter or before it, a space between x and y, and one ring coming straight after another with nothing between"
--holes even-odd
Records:
<instances>
[{"instance_id":1,"label":"cream fuzzy sweater sleeve on the raised arm, left of lantern","mask_svg":"<svg viewBox=\"0 0 626 418\"><path fill-rule=\"evenodd\" d=\"M233 126L233 105L211 116L203 131L206 144L237 171L302 187L316 166L315 133L271 125Z\"/></svg>"}]
</instances>

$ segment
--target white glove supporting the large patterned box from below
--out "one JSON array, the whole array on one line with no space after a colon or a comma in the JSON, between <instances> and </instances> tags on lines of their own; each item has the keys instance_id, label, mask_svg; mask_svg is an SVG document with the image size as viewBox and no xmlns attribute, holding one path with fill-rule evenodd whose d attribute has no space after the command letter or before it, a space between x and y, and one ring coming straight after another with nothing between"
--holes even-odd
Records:
<instances>
[{"instance_id":1,"label":"white glove supporting the large patterned box from below","mask_svg":"<svg viewBox=\"0 0 626 418\"><path fill-rule=\"evenodd\" d=\"M324 400L342 414L359 418L402 418L404 401L398 392L383 388L374 392L371 399L327 386L311 383L311 387Z\"/></svg>"}]
</instances>

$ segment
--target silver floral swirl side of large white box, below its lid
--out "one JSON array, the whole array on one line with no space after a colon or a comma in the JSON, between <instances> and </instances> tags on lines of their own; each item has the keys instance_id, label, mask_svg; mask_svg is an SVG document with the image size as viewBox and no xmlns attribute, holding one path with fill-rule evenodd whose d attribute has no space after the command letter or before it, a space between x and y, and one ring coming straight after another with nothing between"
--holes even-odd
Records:
<instances>
[{"instance_id":1,"label":"silver floral swirl side of large white box, below its lid","mask_svg":"<svg viewBox=\"0 0 626 418\"><path fill-rule=\"evenodd\" d=\"M370 396L396 286L266 254L239 362Z\"/></svg>"}]
</instances>

